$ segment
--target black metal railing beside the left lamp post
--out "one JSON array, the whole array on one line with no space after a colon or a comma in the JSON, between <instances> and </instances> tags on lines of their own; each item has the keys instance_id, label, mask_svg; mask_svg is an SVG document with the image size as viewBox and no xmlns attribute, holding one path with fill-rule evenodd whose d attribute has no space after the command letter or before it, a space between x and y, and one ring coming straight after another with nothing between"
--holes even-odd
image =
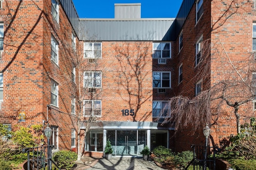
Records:
<instances>
[{"instance_id":1,"label":"black metal railing beside the left lamp post","mask_svg":"<svg viewBox=\"0 0 256 170\"><path fill-rule=\"evenodd\" d=\"M23 153L28 154L27 170L51 170L51 165L49 166L48 162L50 162L50 164L53 163L56 166L56 168L60 170L60 168L52 160L53 146L54 145L38 146L33 148L22 149Z\"/></svg>"}]
</instances>

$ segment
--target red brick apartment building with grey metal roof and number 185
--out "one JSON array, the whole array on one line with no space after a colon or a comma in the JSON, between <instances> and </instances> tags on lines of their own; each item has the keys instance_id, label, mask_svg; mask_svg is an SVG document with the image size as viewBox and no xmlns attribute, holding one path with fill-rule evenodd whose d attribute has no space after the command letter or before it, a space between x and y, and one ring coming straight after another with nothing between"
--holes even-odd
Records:
<instances>
[{"instance_id":1,"label":"red brick apartment building with grey metal roof and number 185","mask_svg":"<svg viewBox=\"0 0 256 170\"><path fill-rule=\"evenodd\" d=\"M115 155L129 156L140 156L146 144L175 151L203 144L205 122L193 133L193 125L178 128L175 136L175 122L162 125L168 100L194 98L222 79L215 42L238 66L254 51L254 1L184 0L176 18L140 18L140 4L115 4L112 19L79 18L72 0L0 2L0 123L12 129L49 123L53 152L77 147L74 85L85 90L81 129L92 121L87 153L102 155L108 139ZM211 43L208 55L200 54L203 42ZM222 107L212 145L236 134L234 109ZM241 123L255 116L254 102L240 108Z\"/></svg>"}]
</instances>

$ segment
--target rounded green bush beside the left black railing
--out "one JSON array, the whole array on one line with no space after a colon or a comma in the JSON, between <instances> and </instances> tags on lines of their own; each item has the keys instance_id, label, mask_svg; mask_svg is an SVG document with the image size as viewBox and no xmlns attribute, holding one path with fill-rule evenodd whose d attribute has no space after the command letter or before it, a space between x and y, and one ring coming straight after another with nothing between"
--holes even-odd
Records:
<instances>
[{"instance_id":1,"label":"rounded green bush beside the left black railing","mask_svg":"<svg viewBox=\"0 0 256 170\"><path fill-rule=\"evenodd\" d=\"M56 152L52 159L59 168L70 170L74 167L75 161L77 160L77 154L70 150L61 150Z\"/></svg>"}]
</instances>

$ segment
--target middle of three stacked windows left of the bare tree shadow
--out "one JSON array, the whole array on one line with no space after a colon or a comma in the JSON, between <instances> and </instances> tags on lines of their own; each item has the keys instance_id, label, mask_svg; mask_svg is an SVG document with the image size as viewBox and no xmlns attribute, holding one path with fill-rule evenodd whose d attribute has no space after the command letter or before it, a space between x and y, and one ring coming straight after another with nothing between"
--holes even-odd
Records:
<instances>
[{"instance_id":1,"label":"middle of three stacked windows left of the bare tree shadow","mask_svg":"<svg viewBox=\"0 0 256 170\"><path fill-rule=\"evenodd\" d=\"M84 72L84 87L101 87L101 72Z\"/></svg>"}]
</instances>

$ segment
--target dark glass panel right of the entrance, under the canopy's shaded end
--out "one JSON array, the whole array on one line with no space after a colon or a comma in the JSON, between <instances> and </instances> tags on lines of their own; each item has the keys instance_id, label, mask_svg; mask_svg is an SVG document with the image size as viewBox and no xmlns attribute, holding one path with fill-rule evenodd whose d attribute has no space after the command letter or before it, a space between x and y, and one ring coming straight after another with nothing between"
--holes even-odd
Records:
<instances>
[{"instance_id":1,"label":"dark glass panel right of the entrance, under the canopy's shaded end","mask_svg":"<svg viewBox=\"0 0 256 170\"><path fill-rule=\"evenodd\" d=\"M167 131L151 130L150 132L150 150L153 150L157 146L167 146Z\"/></svg>"}]
</instances>

